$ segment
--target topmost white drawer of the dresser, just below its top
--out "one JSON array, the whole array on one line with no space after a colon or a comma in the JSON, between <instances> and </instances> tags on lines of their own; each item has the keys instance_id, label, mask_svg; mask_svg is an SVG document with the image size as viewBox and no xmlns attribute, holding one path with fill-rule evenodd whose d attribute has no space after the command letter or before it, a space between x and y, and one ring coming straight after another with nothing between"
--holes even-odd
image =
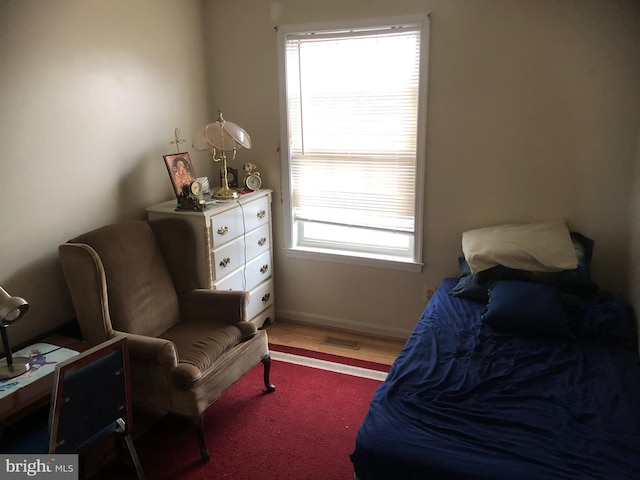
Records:
<instances>
[{"instance_id":1,"label":"topmost white drawer of the dresser, just below its top","mask_svg":"<svg viewBox=\"0 0 640 480\"><path fill-rule=\"evenodd\" d=\"M260 225L269 222L269 200L260 198L246 205L238 205L232 210L227 210L211 217L211 237L213 248L218 248L225 243L249 232Z\"/></svg>"}]
</instances>

